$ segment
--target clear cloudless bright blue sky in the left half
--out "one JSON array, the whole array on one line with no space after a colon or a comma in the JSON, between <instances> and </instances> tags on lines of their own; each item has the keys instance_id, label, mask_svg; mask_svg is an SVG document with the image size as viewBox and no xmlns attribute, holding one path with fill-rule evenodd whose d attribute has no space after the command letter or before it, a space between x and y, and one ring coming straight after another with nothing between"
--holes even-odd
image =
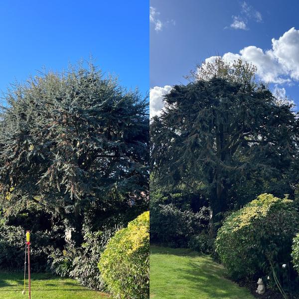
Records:
<instances>
[{"instance_id":1,"label":"clear cloudless bright blue sky in the left half","mask_svg":"<svg viewBox=\"0 0 299 299\"><path fill-rule=\"evenodd\" d=\"M0 1L0 91L80 59L149 91L149 2Z\"/></svg>"}]
</instances>

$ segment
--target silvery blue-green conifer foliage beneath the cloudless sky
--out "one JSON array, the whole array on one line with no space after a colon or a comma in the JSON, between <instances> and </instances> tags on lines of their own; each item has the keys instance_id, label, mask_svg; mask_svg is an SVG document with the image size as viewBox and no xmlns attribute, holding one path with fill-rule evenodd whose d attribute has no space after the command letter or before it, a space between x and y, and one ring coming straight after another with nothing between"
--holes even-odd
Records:
<instances>
[{"instance_id":1,"label":"silvery blue-green conifer foliage beneath the cloudless sky","mask_svg":"<svg viewBox=\"0 0 299 299\"><path fill-rule=\"evenodd\" d=\"M16 213L35 201L80 214L145 205L147 99L93 65L48 73L17 85L0 119L1 205Z\"/></svg>"}]
</instances>

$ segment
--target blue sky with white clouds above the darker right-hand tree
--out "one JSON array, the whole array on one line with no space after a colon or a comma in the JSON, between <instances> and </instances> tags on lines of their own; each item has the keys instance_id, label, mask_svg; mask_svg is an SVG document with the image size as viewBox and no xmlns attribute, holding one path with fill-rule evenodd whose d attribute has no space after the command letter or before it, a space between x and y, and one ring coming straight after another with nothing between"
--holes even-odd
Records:
<instances>
[{"instance_id":1,"label":"blue sky with white clouds above the darker right-hand tree","mask_svg":"<svg viewBox=\"0 0 299 299\"><path fill-rule=\"evenodd\" d=\"M150 0L150 6L151 109L215 55L253 62L272 89L299 104L298 1Z\"/></svg>"}]
</instances>

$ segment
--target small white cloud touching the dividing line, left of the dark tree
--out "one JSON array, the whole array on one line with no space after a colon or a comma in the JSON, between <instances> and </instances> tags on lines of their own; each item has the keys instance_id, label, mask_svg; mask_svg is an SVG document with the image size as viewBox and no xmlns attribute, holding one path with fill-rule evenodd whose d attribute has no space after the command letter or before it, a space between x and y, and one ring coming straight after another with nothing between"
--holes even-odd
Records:
<instances>
[{"instance_id":1,"label":"small white cloud touching the dividing line, left of the dark tree","mask_svg":"<svg viewBox=\"0 0 299 299\"><path fill-rule=\"evenodd\" d=\"M164 87L155 86L149 89L149 118L159 116L164 107L163 96L170 92L171 86Z\"/></svg>"}]
</instances>

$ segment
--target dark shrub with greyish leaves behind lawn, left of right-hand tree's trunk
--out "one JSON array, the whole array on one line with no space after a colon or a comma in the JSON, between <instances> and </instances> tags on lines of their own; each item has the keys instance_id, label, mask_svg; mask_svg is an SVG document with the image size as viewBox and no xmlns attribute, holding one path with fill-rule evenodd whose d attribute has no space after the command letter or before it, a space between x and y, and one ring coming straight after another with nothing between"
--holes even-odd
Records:
<instances>
[{"instance_id":1,"label":"dark shrub with greyish leaves behind lawn, left of right-hand tree's trunk","mask_svg":"<svg viewBox=\"0 0 299 299\"><path fill-rule=\"evenodd\" d=\"M170 247L186 247L192 235L208 227L210 219L206 207L194 213L170 203L152 207L150 211L150 238Z\"/></svg>"}]
</instances>

